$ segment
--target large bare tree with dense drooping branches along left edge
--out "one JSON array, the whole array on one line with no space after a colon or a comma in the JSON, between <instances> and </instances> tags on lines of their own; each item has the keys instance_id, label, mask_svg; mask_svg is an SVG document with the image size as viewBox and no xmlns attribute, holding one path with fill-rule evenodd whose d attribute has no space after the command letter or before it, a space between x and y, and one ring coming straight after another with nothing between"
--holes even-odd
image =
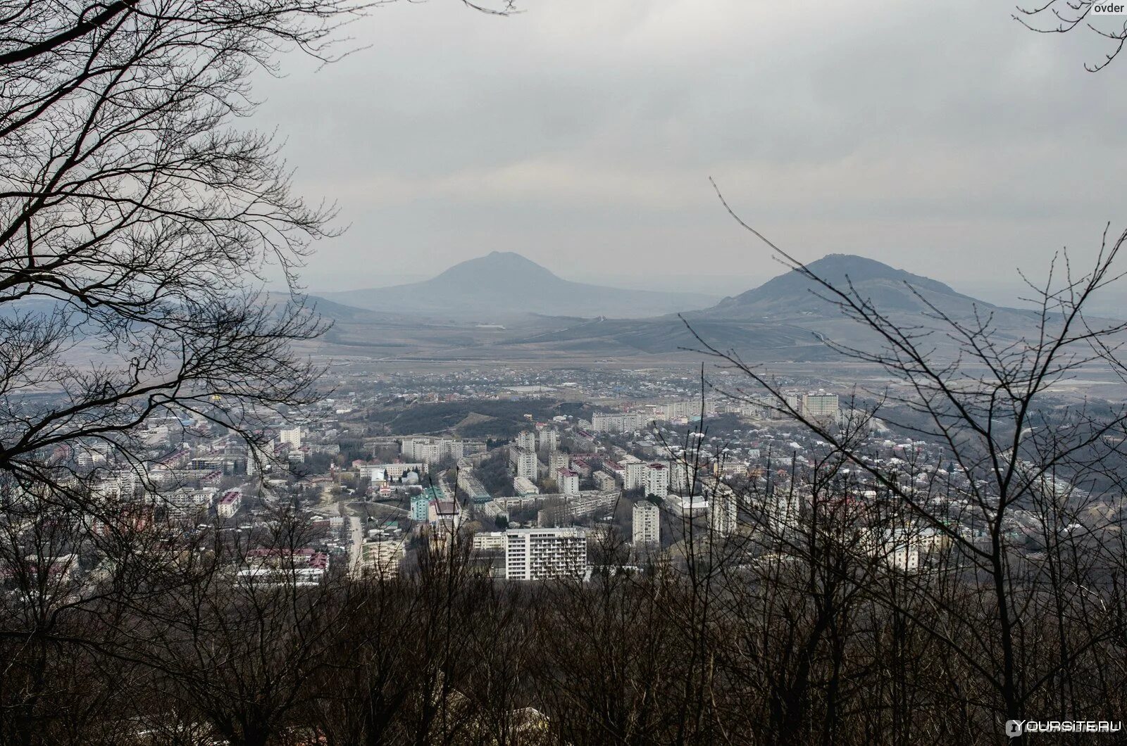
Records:
<instances>
[{"instance_id":1,"label":"large bare tree with dense drooping branches along left edge","mask_svg":"<svg viewBox=\"0 0 1127 746\"><path fill-rule=\"evenodd\" d=\"M205 694L222 692L208 692L189 664L222 646L195 647L186 624L213 641L216 630L258 624L276 633L259 640L269 645L233 636L227 652L303 674L322 656L305 634L334 606L310 592L283 594L284 609L259 588L219 594L231 567L197 558L185 568L185 552L242 560L160 525L160 454L143 428L162 416L214 424L255 459L263 416L317 396L319 370L295 345L327 325L298 272L312 242L335 233L334 210L295 196L270 136L239 118L254 110L256 71L274 72L289 51L337 59L347 51L336 46L339 29L380 3L0 0L6 743L62 743L53 728L82 722L73 708L50 714L79 683L61 673L73 661L107 674L139 666L148 672L139 681L169 693L165 704L180 703L180 725L210 719L229 739L275 737L278 726L264 719L284 725L300 709L295 695L263 694L292 691L292 677L277 689L269 665L228 659L212 660L222 672L213 683L257 693L239 699L241 711L208 710ZM265 292L273 278L285 292ZM88 452L104 465L80 463ZM79 566L86 579L71 583ZM157 619L169 624L140 639ZM161 704L134 701L139 717Z\"/></svg>"}]
</instances>

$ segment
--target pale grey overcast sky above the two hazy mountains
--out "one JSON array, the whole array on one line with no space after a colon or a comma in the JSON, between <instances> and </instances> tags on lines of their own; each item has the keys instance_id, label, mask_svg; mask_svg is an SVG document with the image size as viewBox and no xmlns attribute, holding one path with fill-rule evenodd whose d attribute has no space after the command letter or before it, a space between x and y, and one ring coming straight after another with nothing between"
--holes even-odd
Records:
<instances>
[{"instance_id":1,"label":"pale grey overcast sky above the two hazy mountains","mask_svg":"<svg viewBox=\"0 0 1127 746\"><path fill-rule=\"evenodd\" d=\"M778 274L731 205L805 260L861 254L977 290L1127 221L1127 60L1005 0L454 0L355 24L367 48L261 80L295 186L336 201L312 291L491 250L609 285L721 293Z\"/></svg>"}]
</instances>

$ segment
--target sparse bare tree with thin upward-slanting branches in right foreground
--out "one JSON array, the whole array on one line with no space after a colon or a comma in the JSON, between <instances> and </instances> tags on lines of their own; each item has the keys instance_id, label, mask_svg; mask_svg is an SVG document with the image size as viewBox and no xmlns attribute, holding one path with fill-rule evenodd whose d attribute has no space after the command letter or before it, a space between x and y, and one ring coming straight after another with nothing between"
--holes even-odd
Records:
<instances>
[{"instance_id":1,"label":"sparse bare tree with thin upward-slanting branches in right foreground","mask_svg":"<svg viewBox=\"0 0 1127 746\"><path fill-rule=\"evenodd\" d=\"M912 614L916 628L961 660L980 682L976 707L986 712L1008 720L1065 707L1092 716L1115 690L1102 689L1102 700L1091 690L1080 698L1072 682L1092 668L1110 675L1097 651L1121 639L1124 629L1121 612L1111 606L1121 566L1112 540L1122 527L1122 477L1108 476L1103 485L1091 477L1121 459L1127 409L1062 406L1053 388L1093 366L1122 376L1118 345L1127 326L1090 318L1085 305L1121 276L1116 267L1127 233L1106 238L1086 273L1074 274L1065 256L1063 279L1050 273L1044 285L1030 283L1039 308L1029 328L1010 340L988 310L957 317L911 286L924 312L915 322L895 320L848 278L842 284L818 276L740 224L869 335L868 346L826 339L895 382L867 392L873 403L860 416L879 415L900 432L941 444L943 460L953 465L953 473L943 464L932 464L926 476L889 471L848 429L789 403L762 366L702 340L707 354L744 373L778 410L838 452L905 522L952 547L957 583L939 581L948 575L921 577L903 600L884 603ZM956 354L937 353L939 340ZM1033 548L1024 544L1030 533ZM913 611L919 603L932 611Z\"/></svg>"}]
</instances>

